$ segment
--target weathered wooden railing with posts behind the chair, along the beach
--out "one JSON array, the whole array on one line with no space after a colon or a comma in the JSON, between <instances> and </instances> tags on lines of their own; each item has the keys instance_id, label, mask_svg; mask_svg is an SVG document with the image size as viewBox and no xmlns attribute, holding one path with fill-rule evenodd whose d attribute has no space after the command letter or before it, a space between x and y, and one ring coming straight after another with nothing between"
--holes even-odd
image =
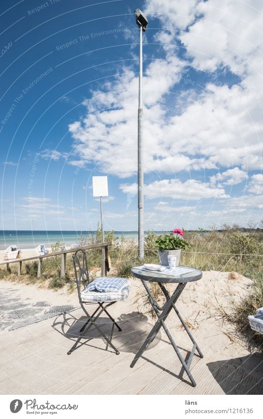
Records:
<instances>
[{"instance_id":1,"label":"weathered wooden railing with posts behind the chair, along the beach","mask_svg":"<svg viewBox=\"0 0 263 419\"><path fill-rule=\"evenodd\" d=\"M68 253L74 253L74 252L76 252L77 250L80 250L80 249L89 250L89 249L96 249L96 248L101 247L101 249L102 249L102 252L101 252L101 274L102 274L102 276L107 276L107 266L106 265L107 265L107 260L108 260L108 257L109 257L109 246L112 246L113 244L114 244L113 241L106 241L104 243L91 244L89 246L81 246L77 249L62 250L61 252L48 253L47 255L33 256L32 258L21 258L21 259L14 259L14 260L10 260L10 261L5 261L5 262L1 262L0 265L6 265L7 271L11 272L11 269L10 269L9 265L10 264L18 264L17 275L21 275L22 263L23 262L38 260L37 277L40 278L43 259L61 255L60 277L65 278L66 260L67 260L67 254Z\"/></svg>"}]
</instances>

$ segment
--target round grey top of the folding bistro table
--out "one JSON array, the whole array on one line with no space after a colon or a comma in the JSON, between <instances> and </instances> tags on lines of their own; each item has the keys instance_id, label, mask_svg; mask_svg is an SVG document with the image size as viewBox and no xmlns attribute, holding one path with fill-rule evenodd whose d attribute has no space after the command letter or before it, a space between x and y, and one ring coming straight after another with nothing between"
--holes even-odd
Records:
<instances>
[{"instance_id":1,"label":"round grey top of the folding bistro table","mask_svg":"<svg viewBox=\"0 0 263 419\"><path fill-rule=\"evenodd\" d=\"M180 265L180 267L187 267L184 265ZM143 270L137 267L131 268L131 273L135 278L143 279L144 281L151 281L151 282L162 282L162 283L184 283L184 282L193 282L198 281L198 279L202 278L203 272L199 269L193 267L191 268L192 271L188 273L183 273L181 275L167 275L160 271L152 271L152 270Z\"/></svg>"}]
</instances>

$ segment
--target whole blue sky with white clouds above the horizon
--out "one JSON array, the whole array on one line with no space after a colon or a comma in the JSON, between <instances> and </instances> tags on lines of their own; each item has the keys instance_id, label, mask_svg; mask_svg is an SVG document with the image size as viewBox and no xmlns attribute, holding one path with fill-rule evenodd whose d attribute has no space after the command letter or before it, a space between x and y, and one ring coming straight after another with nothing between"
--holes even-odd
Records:
<instances>
[{"instance_id":1,"label":"whole blue sky with white clouds above the horizon","mask_svg":"<svg viewBox=\"0 0 263 419\"><path fill-rule=\"evenodd\" d=\"M238 4L234 4L238 3ZM139 29L145 229L262 226L259 0L3 0L2 229L137 230Z\"/></svg>"}]
</instances>

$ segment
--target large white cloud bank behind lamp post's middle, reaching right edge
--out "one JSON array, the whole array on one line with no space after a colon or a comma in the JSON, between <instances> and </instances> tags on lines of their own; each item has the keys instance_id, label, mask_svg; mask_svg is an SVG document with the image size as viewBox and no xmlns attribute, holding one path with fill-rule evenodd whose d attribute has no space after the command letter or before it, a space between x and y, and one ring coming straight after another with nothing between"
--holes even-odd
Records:
<instances>
[{"instance_id":1,"label":"large white cloud bank behind lamp post's middle, reaching right edge","mask_svg":"<svg viewBox=\"0 0 263 419\"><path fill-rule=\"evenodd\" d=\"M117 104L121 108L96 114L89 113L88 108L82 123L69 126L82 164L97 164L102 172L121 178L137 172L137 89L132 89L131 96L135 79L130 73L124 78L127 90L120 92L122 83L117 82L110 92L97 97L98 107L103 102L106 108ZM150 100L144 113L145 173L173 175L218 166L241 166L245 171L261 168L263 118L252 92L243 86L228 88L211 83L189 101L182 114L169 115L162 103L166 91L161 86L156 89L158 77L154 73L149 78L149 89L155 85L157 102ZM172 83L170 80L168 85ZM90 106L95 106L92 101Z\"/></svg>"}]
</instances>

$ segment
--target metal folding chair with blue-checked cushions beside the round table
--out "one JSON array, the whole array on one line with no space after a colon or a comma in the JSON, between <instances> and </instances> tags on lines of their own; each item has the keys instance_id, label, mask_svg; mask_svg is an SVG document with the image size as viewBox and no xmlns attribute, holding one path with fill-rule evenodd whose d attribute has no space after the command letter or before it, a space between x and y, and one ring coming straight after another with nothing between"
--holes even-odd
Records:
<instances>
[{"instance_id":1,"label":"metal folding chair with blue-checked cushions beside the round table","mask_svg":"<svg viewBox=\"0 0 263 419\"><path fill-rule=\"evenodd\" d=\"M84 250L77 250L75 252L73 256L73 264L75 269L75 282L77 286L78 299L81 308L87 317L87 320L81 327L79 331L79 337L72 348L68 351L68 355L70 355L76 349L82 338L87 339L86 333L92 326L94 326L94 328L99 332L100 336L107 342L106 350L110 345L118 355L119 351L113 345L112 337L114 326L119 330L119 332L121 332L121 328L115 322L113 317L108 313L108 307L115 304L117 301L127 300L130 291L129 281L126 278L115 276L100 276L99 278L90 281L87 258ZM94 304L98 306L93 314L90 315L86 306ZM102 313L107 314L113 323L111 335L109 338L101 330L102 324L100 323L100 326L98 326L96 323L97 319Z\"/></svg>"}]
</instances>

